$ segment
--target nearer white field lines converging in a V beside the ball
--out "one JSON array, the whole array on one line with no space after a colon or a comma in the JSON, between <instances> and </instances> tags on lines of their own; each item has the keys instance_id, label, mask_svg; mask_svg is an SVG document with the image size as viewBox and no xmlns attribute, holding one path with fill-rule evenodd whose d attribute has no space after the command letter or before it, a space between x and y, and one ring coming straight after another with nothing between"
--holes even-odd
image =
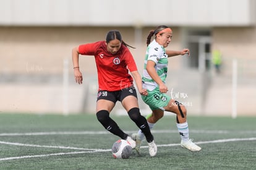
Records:
<instances>
[{"instance_id":1,"label":"nearer white field lines converging in a V beside the ball","mask_svg":"<svg viewBox=\"0 0 256 170\"><path fill-rule=\"evenodd\" d=\"M223 142L237 142L237 141L250 141L250 140L256 140L256 138L228 138L228 139L221 139L221 140L210 140L210 141L202 141L202 142L195 142L197 144L206 144L206 143L223 143ZM1 142L2 144L8 144L12 145L10 142ZM17 145L18 143L14 143ZM19 145L25 146L27 144L22 144L19 143ZM179 143L171 143L167 145L157 145L158 147L174 147L180 145ZM32 145L33 147L40 146L40 145ZM52 146L40 146L40 147L50 147L53 148ZM59 147L57 147L59 148ZM72 147L61 147L61 148L72 148ZM143 146L142 148L147 148L147 146ZM75 148L77 149L77 148ZM48 156L61 156L61 155L75 155L75 154L83 154L83 153L96 153L96 152L106 152L106 151L111 151L110 149L108 150L90 150L90 149L85 149L82 148L82 150L88 150L88 151L72 151L72 152L67 152L67 153L51 153L51 154L44 154L44 155L26 155L26 156L15 156L15 157L7 157L7 158L0 158L0 161L8 161L8 160L14 160L14 159L25 159L25 158L40 158L40 157L48 157Z\"/></svg>"}]
</instances>

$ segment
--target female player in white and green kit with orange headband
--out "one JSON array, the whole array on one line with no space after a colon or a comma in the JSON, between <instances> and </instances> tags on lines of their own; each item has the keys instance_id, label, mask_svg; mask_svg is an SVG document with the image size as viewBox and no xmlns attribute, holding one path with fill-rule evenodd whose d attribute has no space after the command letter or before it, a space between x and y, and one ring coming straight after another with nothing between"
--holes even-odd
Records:
<instances>
[{"instance_id":1,"label":"female player in white and green kit with orange headband","mask_svg":"<svg viewBox=\"0 0 256 170\"><path fill-rule=\"evenodd\" d=\"M151 41L151 37L155 35L155 39ZM171 28L160 25L155 30L151 30L147 37L147 52L143 70L143 87L148 91L148 95L142 96L142 100L150 106L152 113L147 116L150 129L156 122L164 116L164 111L176 114L176 125L181 136L181 147L190 151L200 151L201 148L192 142L189 138L189 126L187 124L186 107L166 95L168 87L166 86L166 76L168 71L168 57L189 54L189 49L181 51L167 50L173 31ZM132 134L132 138L136 141L135 150L140 154L140 145L144 138L141 130L137 134Z\"/></svg>"}]
</instances>

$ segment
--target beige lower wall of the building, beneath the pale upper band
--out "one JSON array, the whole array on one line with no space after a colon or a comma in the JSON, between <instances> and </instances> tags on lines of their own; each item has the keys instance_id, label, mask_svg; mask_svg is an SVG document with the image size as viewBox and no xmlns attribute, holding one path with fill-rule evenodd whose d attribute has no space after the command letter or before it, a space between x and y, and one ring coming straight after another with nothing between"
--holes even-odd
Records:
<instances>
[{"instance_id":1,"label":"beige lower wall of the building, beneath the pale upper band","mask_svg":"<svg viewBox=\"0 0 256 170\"><path fill-rule=\"evenodd\" d=\"M83 85L75 84L71 49L83 43L104 40L108 30L118 29L124 40L137 48L130 50L142 73L145 38L152 28L155 27L142 27L141 30L135 27L0 27L0 111L38 114L94 113L97 90L94 59L88 56L80 58L85 80ZM182 28L173 27L173 32L173 42L168 49L184 48ZM237 101L237 111L239 114L255 114L256 83L248 83L248 80L255 75L256 28L214 27L211 28L211 33L212 47L220 49L224 56L223 79L215 79L216 75L211 75L213 83L210 83L204 96L201 94L201 82L205 80L202 80L197 69L186 65L191 58L174 57L169 64L170 91L173 89L176 97L189 105L191 114L230 114L231 61L233 58L241 60L240 63L250 61L244 62L247 64L243 68L249 68L247 72L240 68L243 71L240 75L247 78L243 78L245 81L239 79L237 95L241 97ZM68 62L69 80L66 85L63 83L64 61ZM220 89L229 92L226 95L216 95L223 93ZM187 93L189 98L182 98L181 93ZM150 112L140 96L139 103L143 113ZM242 106L246 106L246 109ZM124 113L121 104L117 104L113 112Z\"/></svg>"}]
</instances>

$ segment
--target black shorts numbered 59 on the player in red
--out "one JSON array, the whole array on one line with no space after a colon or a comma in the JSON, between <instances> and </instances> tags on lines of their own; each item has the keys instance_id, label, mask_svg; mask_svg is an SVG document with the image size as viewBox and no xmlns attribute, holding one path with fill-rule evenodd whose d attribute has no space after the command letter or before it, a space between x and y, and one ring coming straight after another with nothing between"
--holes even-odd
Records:
<instances>
[{"instance_id":1,"label":"black shorts numbered 59 on the player in red","mask_svg":"<svg viewBox=\"0 0 256 170\"><path fill-rule=\"evenodd\" d=\"M133 86L129 88L124 88L118 91L100 90L98 91L97 101L100 99L104 99L104 100L109 100L109 101L113 101L113 103L116 103L117 100L122 101L124 100L124 98L126 98L126 96L130 96L130 95L135 96L135 98L137 98L137 93Z\"/></svg>"}]
</instances>

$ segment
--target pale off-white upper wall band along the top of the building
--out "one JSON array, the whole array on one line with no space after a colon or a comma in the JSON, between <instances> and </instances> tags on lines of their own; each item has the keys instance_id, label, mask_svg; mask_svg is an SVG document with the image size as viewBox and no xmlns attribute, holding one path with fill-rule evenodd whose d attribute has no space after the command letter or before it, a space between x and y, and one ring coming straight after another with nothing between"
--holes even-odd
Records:
<instances>
[{"instance_id":1,"label":"pale off-white upper wall band along the top of the building","mask_svg":"<svg viewBox=\"0 0 256 170\"><path fill-rule=\"evenodd\" d=\"M249 27L254 0L1 0L0 25Z\"/></svg>"}]
</instances>

